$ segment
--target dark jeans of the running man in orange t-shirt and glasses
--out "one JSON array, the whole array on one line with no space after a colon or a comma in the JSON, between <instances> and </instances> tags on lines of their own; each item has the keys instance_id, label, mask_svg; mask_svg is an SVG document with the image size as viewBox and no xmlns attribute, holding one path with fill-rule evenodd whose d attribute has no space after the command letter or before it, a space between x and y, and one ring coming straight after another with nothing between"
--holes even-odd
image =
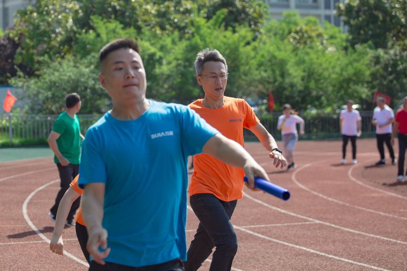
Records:
<instances>
[{"instance_id":1,"label":"dark jeans of the running man in orange t-shirt and glasses","mask_svg":"<svg viewBox=\"0 0 407 271\"><path fill-rule=\"evenodd\" d=\"M198 229L188 249L185 270L197 270L213 253L210 271L230 270L238 251L238 238L230 218L237 200L222 201L213 194L195 194L191 207L199 219Z\"/></svg>"}]
</instances>

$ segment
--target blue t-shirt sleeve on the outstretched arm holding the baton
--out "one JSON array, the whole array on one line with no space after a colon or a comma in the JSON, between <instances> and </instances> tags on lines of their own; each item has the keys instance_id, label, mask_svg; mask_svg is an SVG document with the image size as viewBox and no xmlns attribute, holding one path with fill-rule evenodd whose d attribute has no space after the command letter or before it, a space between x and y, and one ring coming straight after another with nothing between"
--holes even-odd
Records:
<instances>
[{"instance_id":1,"label":"blue t-shirt sleeve on the outstretched arm holding the baton","mask_svg":"<svg viewBox=\"0 0 407 271\"><path fill-rule=\"evenodd\" d=\"M187 106L179 107L182 145L185 155L195 155L202 152L205 143L219 133Z\"/></svg>"}]
</instances>

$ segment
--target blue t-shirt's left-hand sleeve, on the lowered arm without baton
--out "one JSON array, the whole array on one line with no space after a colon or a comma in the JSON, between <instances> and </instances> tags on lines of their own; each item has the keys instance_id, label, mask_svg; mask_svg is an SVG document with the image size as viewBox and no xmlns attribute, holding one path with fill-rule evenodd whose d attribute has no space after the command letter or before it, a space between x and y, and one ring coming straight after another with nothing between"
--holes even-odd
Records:
<instances>
[{"instance_id":1,"label":"blue t-shirt's left-hand sleeve, on the lowered arm without baton","mask_svg":"<svg viewBox=\"0 0 407 271\"><path fill-rule=\"evenodd\" d=\"M79 165L79 187L89 183L106 183L106 165L101 154L97 137L90 129L82 141L82 154Z\"/></svg>"}]
</instances>

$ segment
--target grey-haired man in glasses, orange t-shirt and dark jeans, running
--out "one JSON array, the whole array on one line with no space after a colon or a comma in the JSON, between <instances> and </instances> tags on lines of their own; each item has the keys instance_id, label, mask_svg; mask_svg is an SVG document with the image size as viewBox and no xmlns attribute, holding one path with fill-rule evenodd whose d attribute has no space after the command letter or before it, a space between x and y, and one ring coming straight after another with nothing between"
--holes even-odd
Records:
<instances>
[{"instance_id":1,"label":"grey-haired man in glasses, orange t-shirt and dark jeans, running","mask_svg":"<svg viewBox=\"0 0 407 271\"><path fill-rule=\"evenodd\" d=\"M205 92L203 99L189 104L225 137L244 146L243 128L249 129L269 152L276 167L287 165L273 136L259 123L250 105L243 99L224 96L227 64L217 50L204 49L195 60L196 80ZM193 157L194 172L189 196L199 226L188 249L185 270L197 270L213 254L210 270L230 270L238 249L230 222L237 200L243 197L244 172L207 154Z\"/></svg>"}]
</instances>

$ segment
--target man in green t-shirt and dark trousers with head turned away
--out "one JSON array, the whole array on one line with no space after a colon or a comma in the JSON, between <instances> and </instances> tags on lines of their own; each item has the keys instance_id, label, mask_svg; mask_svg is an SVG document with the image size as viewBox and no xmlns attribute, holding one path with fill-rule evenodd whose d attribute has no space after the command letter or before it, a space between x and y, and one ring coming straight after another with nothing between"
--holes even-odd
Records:
<instances>
[{"instance_id":1,"label":"man in green t-shirt and dark trousers with head turned away","mask_svg":"<svg viewBox=\"0 0 407 271\"><path fill-rule=\"evenodd\" d=\"M76 115L80 110L80 97L76 93L67 96L66 111L61 113L52 126L48 137L49 147L54 153L54 162L61 178L61 189L56 195L55 203L48 214L55 221L56 211L65 192L69 188L73 178L79 173L80 142L83 135L80 133L79 118ZM76 199L71 207L67 218L67 225L73 226L76 209L79 207L80 198Z\"/></svg>"}]
</instances>

